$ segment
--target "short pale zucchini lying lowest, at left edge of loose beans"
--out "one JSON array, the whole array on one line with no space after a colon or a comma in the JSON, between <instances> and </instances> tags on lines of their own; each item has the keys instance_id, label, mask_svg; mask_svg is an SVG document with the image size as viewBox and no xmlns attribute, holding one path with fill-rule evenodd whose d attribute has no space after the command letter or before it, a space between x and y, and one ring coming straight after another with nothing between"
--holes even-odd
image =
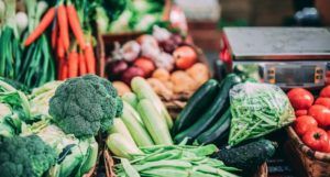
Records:
<instances>
[{"instance_id":1,"label":"short pale zucchini lying lowest, at left edge of loose beans","mask_svg":"<svg viewBox=\"0 0 330 177\"><path fill-rule=\"evenodd\" d=\"M106 143L108 148L119 157L131 159L132 155L143 154L135 144L132 144L120 133L110 134Z\"/></svg>"}]
</instances>

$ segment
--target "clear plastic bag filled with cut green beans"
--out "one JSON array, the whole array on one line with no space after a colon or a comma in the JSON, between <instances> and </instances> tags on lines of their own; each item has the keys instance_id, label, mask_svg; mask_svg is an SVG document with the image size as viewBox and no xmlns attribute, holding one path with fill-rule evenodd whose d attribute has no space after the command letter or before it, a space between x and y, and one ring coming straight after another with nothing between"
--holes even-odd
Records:
<instances>
[{"instance_id":1,"label":"clear plastic bag filled with cut green beans","mask_svg":"<svg viewBox=\"0 0 330 177\"><path fill-rule=\"evenodd\" d=\"M230 90L231 128L229 144L237 145L288 125L294 109L277 86L244 82Z\"/></svg>"}]
</instances>

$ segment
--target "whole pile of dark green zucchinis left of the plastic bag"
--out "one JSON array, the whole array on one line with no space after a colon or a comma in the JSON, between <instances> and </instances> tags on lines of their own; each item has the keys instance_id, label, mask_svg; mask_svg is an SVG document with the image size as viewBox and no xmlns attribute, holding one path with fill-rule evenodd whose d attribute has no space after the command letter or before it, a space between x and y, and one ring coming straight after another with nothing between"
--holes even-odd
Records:
<instances>
[{"instance_id":1,"label":"whole pile of dark green zucchinis left of the plastic bag","mask_svg":"<svg viewBox=\"0 0 330 177\"><path fill-rule=\"evenodd\" d=\"M240 82L240 77L231 74L221 84L212 79L204 84L175 121L175 142L188 137L188 143L220 145L226 141L231 119L229 90Z\"/></svg>"}]
</instances>

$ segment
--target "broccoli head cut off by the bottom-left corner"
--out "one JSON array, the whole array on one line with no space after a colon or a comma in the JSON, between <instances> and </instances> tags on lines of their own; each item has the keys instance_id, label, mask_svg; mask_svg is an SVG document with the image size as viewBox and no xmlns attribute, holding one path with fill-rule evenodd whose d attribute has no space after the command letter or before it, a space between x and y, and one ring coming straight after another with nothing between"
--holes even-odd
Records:
<instances>
[{"instance_id":1,"label":"broccoli head cut off by the bottom-left corner","mask_svg":"<svg viewBox=\"0 0 330 177\"><path fill-rule=\"evenodd\" d=\"M36 135L0 142L1 177L42 177L55 163L55 151Z\"/></svg>"}]
</instances>

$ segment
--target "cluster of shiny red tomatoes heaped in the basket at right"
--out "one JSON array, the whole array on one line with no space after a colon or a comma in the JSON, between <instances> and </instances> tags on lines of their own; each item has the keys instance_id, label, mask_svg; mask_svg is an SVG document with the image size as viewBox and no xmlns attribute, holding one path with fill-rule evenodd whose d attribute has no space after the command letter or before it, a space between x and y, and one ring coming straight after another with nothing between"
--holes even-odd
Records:
<instances>
[{"instance_id":1,"label":"cluster of shiny red tomatoes heaped in the basket at right","mask_svg":"<svg viewBox=\"0 0 330 177\"><path fill-rule=\"evenodd\" d=\"M330 86L316 100L302 88L292 89L287 96L296 111L296 133L311 150L330 153Z\"/></svg>"}]
</instances>

